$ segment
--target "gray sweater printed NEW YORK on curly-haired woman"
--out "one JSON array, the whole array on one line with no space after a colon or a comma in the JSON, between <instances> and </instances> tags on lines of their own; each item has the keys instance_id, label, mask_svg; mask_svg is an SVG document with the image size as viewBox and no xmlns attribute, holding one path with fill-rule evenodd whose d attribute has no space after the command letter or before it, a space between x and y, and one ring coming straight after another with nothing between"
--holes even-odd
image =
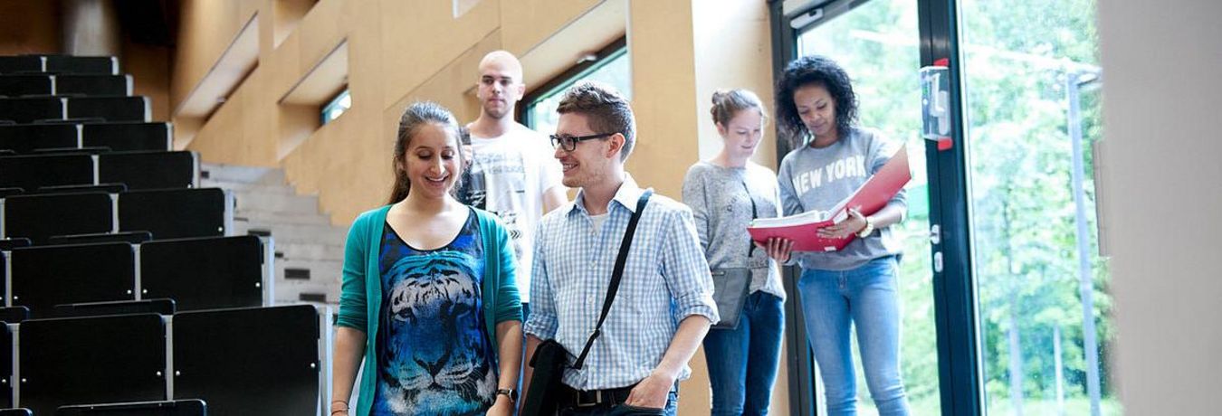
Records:
<instances>
[{"instance_id":1,"label":"gray sweater printed NEW YORK on curly-haired woman","mask_svg":"<svg viewBox=\"0 0 1222 416\"><path fill-rule=\"evenodd\" d=\"M785 215L831 210L882 168L898 148L898 143L873 131L852 128L827 148L808 144L789 151L777 177ZM898 205L907 211L906 198L901 190L887 206ZM854 238L843 250L794 253L793 259L802 268L844 271L901 251L901 242L892 235L891 227L885 227L866 238Z\"/></svg>"}]
</instances>

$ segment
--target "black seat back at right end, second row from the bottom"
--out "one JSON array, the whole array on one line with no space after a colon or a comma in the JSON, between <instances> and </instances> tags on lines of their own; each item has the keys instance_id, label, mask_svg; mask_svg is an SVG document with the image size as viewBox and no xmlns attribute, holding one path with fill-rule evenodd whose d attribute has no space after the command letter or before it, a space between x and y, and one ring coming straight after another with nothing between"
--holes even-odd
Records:
<instances>
[{"instance_id":1,"label":"black seat back at right end, second row from the bottom","mask_svg":"<svg viewBox=\"0 0 1222 416\"><path fill-rule=\"evenodd\" d=\"M144 243L141 296L174 299L180 311L260 306L271 281L266 257L254 235Z\"/></svg>"}]
</instances>

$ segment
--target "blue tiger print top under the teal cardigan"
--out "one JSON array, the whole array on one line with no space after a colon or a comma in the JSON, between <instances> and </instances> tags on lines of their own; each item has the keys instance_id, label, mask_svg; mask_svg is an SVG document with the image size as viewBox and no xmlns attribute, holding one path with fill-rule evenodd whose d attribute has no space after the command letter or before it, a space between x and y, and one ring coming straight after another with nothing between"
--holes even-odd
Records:
<instances>
[{"instance_id":1,"label":"blue tiger print top under the teal cardigan","mask_svg":"<svg viewBox=\"0 0 1222 416\"><path fill-rule=\"evenodd\" d=\"M496 398L484 328L484 246L470 212L450 244L409 246L382 226L382 306L371 415L483 415Z\"/></svg>"}]
</instances>

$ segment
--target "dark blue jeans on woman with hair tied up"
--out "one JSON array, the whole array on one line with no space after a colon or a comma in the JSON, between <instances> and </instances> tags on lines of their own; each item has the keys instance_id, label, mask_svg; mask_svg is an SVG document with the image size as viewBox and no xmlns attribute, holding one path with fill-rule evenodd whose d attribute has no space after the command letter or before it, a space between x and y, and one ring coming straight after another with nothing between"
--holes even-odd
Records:
<instances>
[{"instance_id":1,"label":"dark blue jeans on woman with hair tied up","mask_svg":"<svg viewBox=\"0 0 1222 416\"><path fill-rule=\"evenodd\" d=\"M714 416L767 415L785 333L782 303L755 292L743 304L738 328L712 329L704 337Z\"/></svg>"}]
</instances>

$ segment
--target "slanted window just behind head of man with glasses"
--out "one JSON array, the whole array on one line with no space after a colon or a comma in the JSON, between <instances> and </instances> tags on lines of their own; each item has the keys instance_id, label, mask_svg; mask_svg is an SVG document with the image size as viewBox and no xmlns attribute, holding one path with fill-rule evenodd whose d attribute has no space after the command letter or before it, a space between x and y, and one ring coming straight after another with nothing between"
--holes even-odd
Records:
<instances>
[{"instance_id":1,"label":"slanted window just behind head of man with glasses","mask_svg":"<svg viewBox=\"0 0 1222 416\"><path fill-rule=\"evenodd\" d=\"M620 38L598 54L583 59L573 68L527 94L522 100L527 104L519 117L522 123L543 134L556 133L556 123L560 121L556 107L560 106L560 98L578 81L606 83L632 100L632 61L628 57L627 39Z\"/></svg>"}]
</instances>

